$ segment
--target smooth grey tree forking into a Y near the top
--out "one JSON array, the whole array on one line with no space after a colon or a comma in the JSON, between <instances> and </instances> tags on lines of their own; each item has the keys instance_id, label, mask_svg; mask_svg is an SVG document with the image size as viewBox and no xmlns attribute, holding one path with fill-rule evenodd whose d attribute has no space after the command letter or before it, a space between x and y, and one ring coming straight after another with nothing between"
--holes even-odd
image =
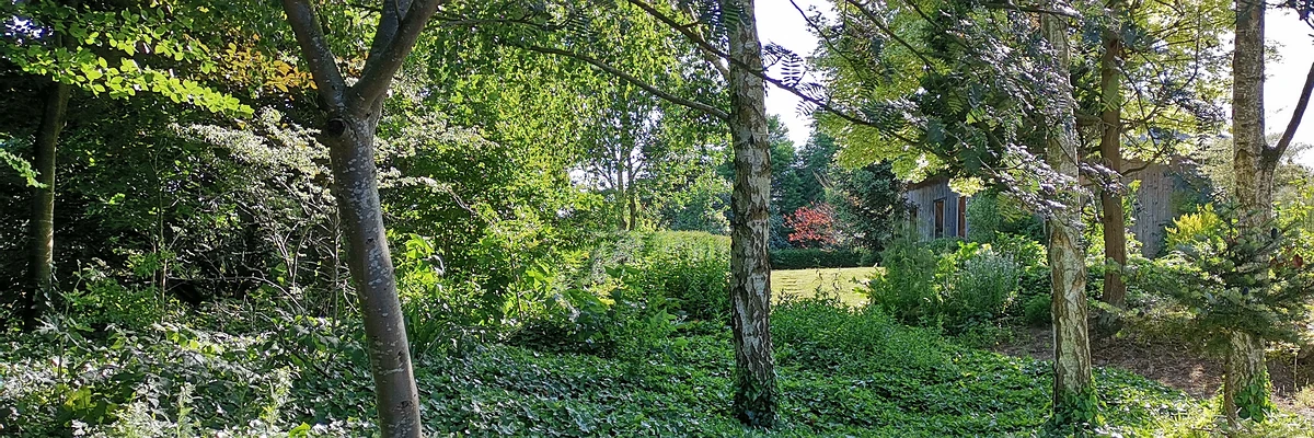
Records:
<instances>
[{"instance_id":1,"label":"smooth grey tree forking into a Y near the top","mask_svg":"<svg viewBox=\"0 0 1314 438\"><path fill-rule=\"evenodd\" d=\"M328 146L332 160L338 210L346 222L347 264L365 322L378 427L384 437L419 437L422 426L419 393L378 201L374 135L393 75L439 3L385 0L365 66L356 83L348 85L314 7L306 0L283 1L326 112L327 121L318 139Z\"/></svg>"}]
</instances>

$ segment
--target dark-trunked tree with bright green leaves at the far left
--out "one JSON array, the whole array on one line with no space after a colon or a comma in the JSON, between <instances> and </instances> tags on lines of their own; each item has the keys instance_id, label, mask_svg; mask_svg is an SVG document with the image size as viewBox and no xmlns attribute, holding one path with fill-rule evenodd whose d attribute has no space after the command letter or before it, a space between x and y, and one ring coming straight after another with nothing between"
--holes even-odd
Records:
<instances>
[{"instance_id":1,"label":"dark-trunked tree with bright green leaves at the far left","mask_svg":"<svg viewBox=\"0 0 1314 438\"><path fill-rule=\"evenodd\" d=\"M251 108L235 97L175 74L172 67L191 67L189 62L201 63L197 70L210 70L213 64L204 59L206 50L187 50L188 43L197 42L188 34L193 22L187 13L194 12L175 14L164 9L112 1L0 5L0 13L14 18L14 25L7 25L0 38L0 54L9 62L7 67L49 80L41 91L45 100L34 142L28 264L32 291L18 300L26 301L21 304L21 313L29 329L54 299L57 146L75 87L117 99L142 89L217 113L251 113ZM184 20L175 20L179 16ZM170 67L156 68L152 66L156 63ZM189 68L177 70L191 72Z\"/></svg>"}]
</instances>

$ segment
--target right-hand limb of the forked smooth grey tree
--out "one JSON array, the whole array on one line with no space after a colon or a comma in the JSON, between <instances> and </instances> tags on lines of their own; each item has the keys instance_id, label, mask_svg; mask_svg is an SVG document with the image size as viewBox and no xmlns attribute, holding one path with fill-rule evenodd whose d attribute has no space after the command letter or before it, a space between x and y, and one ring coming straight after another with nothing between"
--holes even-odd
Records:
<instances>
[{"instance_id":1,"label":"right-hand limb of the forked smooth grey tree","mask_svg":"<svg viewBox=\"0 0 1314 438\"><path fill-rule=\"evenodd\" d=\"M371 50L372 55L365 61L365 70L360 74L360 82L351 87L350 104L352 105L352 110L369 110L374 107L374 101L388 92L388 87L393 82L393 75L406 62L406 57L415 47L415 41L419 39L420 32L424 30L424 24L438 12L440 3L442 0L414 1L407 8L405 16L401 16L401 22L397 25L396 32L385 32L386 26L380 24L378 33L374 34L374 46L377 46L377 50ZM384 8L384 14L389 14L386 7ZM388 38L389 41L381 41L382 38Z\"/></svg>"}]
</instances>

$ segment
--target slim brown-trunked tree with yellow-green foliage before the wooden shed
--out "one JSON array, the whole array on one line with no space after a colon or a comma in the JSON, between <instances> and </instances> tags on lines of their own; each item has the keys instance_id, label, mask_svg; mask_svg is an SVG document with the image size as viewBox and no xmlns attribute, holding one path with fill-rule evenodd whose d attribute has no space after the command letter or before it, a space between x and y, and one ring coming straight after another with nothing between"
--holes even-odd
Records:
<instances>
[{"instance_id":1,"label":"slim brown-trunked tree with yellow-green foliage before the wooden shed","mask_svg":"<svg viewBox=\"0 0 1314 438\"><path fill-rule=\"evenodd\" d=\"M1172 159L1184 143L1213 135L1222 121L1229 3L1160 4L1110 0L1084 11L1085 39L1077 39L1074 68L1077 126L1093 128L1097 163L1088 176L1097 182L1104 238L1104 293L1110 305L1126 305L1126 212L1121 178L1141 167ZM1096 38L1091 38L1096 37ZM1084 133L1079 130L1079 133Z\"/></svg>"}]
</instances>

